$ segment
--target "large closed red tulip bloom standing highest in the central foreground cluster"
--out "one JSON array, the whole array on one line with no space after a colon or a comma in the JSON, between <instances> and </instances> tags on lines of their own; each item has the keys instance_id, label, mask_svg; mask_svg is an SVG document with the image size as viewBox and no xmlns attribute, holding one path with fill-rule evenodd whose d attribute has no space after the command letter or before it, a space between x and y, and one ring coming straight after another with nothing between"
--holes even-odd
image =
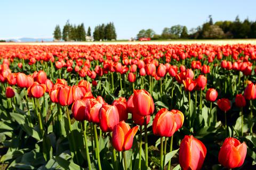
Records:
<instances>
[{"instance_id":1,"label":"large closed red tulip bloom standing highest in the central foreground cluster","mask_svg":"<svg viewBox=\"0 0 256 170\"><path fill-rule=\"evenodd\" d=\"M133 104L134 108L137 110L138 114L141 116L151 115L154 112L155 105L153 98L148 91L134 90L133 91Z\"/></svg>"}]
</instances>

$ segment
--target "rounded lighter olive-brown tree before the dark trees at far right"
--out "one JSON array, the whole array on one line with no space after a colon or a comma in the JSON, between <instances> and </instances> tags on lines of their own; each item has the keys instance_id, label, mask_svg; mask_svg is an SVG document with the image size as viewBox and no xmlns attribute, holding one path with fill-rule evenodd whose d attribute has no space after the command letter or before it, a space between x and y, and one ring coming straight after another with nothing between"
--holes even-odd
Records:
<instances>
[{"instance_id":1,"label":"rounded lighter olive-brown tree before the dark trees at far right","mask_svg":"<svg viewBox=\"0 0 256 170\"><path fill-rule=\"evenodd\" d=\"M203 32L205 39L221 39L225 37L225 33L218 25L210 25L209 29Z\"/></svg>"}]
</instances>

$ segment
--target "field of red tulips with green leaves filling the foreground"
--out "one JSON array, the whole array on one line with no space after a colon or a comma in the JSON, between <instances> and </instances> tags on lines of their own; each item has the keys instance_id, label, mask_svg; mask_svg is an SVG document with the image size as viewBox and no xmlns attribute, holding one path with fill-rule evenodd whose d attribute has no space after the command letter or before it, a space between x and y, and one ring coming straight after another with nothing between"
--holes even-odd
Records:
<instances>
[{"instance_id":1,"label":"field of red tulips with green leaves filling the foreground","mask_svg":"<svg viewBox=\"0 0 256 170\"><path fill-rule=\"evenodd\" d=\"M256 45L2 45L0 169L254 169Z\"/></svg>"}]
</instances>

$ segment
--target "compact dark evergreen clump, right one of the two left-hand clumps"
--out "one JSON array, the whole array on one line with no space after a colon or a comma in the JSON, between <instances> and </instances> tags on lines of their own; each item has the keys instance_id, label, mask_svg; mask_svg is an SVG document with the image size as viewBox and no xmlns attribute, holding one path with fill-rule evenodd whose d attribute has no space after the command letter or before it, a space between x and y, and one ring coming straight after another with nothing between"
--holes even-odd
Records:
<instances>
[{"instance_id":1,"label":"compact dark evergreen clump, right one of the two left-hand clumps","mask_svg":"<svg viewBox=\"0 0 256 170\"><path fill-rule=\"evenodd\" d=\"M116 29L113 22L100 24L94 28L94 40L116 40Z\"/></svg>"}]
</instances>

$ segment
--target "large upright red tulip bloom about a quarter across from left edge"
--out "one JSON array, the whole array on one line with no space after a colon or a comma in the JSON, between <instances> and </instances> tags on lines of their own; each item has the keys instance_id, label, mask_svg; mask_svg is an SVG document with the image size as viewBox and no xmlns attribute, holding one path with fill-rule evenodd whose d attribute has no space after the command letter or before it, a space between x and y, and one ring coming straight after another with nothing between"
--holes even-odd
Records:
<instances>
[{"instance_id":1,"label":"large upright red tulip bloom about a quarter across from left edge","mask_svg":"<svg viewBox=\"0 0 256 170\"><path fill-rule=\"evenodd\" d=\"M69 86L62 86L57 89L57 100L61 106L68 106L73 103L73 90Z\"/></svg>"}]
</instances>

